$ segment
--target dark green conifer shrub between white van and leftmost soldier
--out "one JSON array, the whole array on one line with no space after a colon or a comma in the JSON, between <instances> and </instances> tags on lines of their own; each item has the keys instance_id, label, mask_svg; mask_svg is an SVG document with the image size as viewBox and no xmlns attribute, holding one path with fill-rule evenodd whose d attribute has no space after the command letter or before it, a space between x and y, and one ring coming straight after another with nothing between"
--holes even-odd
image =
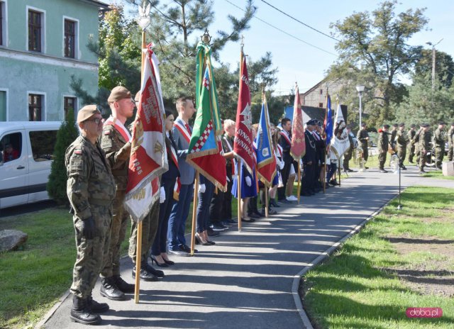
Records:
<instances>
[{"instance_id":1,"label":"dark green conifer shrub between white van and leftmost soldier","mask_svg":"<svg viewBox=\"0 0 454 329\"><path fill-rule=\"evenodd\" d=\"M57 132L57 141L53 161L50 167L49 181L47 190L49 196L60 204L68 204L66 195L67 173L65 166L65 152L72 142L79 136L74 121L74 109L71 108L66 115L66 121L62 123Z\"/></svg>"}]
</instances>

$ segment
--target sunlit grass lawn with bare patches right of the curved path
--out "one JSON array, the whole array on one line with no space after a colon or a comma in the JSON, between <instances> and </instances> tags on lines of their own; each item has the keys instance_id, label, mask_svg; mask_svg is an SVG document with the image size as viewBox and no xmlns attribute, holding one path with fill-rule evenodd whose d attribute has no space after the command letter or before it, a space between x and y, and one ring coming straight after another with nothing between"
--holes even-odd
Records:
<instances>
[{"instance_id":1,"label":"sunlit grass lawn with bare patches right of the curved path","mask_svg":"<svg viewBox=\"0 0 454 329\"><path fill-rule=\"evenodd\" d=\"M411 187L304 277L315 328L454 328L454 190ZM441 318L406 318L440 307Z\"/></svg>"}]
</instances>

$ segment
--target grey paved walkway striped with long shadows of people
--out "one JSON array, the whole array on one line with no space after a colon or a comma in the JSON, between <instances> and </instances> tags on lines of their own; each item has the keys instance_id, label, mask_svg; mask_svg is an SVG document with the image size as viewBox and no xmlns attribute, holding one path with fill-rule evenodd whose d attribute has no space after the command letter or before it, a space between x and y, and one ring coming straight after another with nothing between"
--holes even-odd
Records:
<instances>
[{"instance_id":1,"label":"grey paved walkway striped with long shadows of people","mask_svg":"<svg viewBox=\"0 0 454 329\"><path fill-rule=\"evenodd\" d=\"M356 225L396 196L399 176L377 170L355 173L325 195L304 198L300 206L278 208L269 219L231 228L196 257L173 257L158 282L140 283L140 303L109 301L102 328L304 328L292 295L294 276ZM412 167L402 186L453 187L454 181L421 178ZM404 205L405 206L405 205ZM131 279L125 259L123 278ZM44 328L86 328L71 323L66 298Z\"/></svg>"}]
</instances>

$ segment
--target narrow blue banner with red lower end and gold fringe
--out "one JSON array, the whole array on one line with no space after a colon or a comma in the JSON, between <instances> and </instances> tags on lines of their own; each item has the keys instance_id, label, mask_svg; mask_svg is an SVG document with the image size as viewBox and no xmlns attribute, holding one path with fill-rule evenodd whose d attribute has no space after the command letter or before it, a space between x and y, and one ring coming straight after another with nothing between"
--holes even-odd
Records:
<instances>
[{"instance_id":1,"label":"narrow blue banner with red lower end and gold fringe","mask_svg":"<svg viewBox=\"0 0 454 329\"><path fill-rule=\"evenodd\" d=\"M272 147L270 133L270 118L268 117L268 104L265 94L263 94L262 111L260 112L260 121L258 123L258 133L255 138L257 145L257 170L258 177L267 186L272 184L272 179L276 174L275 151Z\"/></svg>"}]
</instances>

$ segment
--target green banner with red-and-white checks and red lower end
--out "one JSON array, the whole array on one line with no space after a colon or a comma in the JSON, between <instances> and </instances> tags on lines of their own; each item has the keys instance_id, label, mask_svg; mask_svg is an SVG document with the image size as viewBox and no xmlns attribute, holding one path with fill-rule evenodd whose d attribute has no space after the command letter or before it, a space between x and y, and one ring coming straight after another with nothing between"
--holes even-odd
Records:
<instances>
[{"instance_id":1,"label":"green banner with red-and-white checks and red lower end","mask_svg":"<svg viewBox=\"0 0 454 329\"><path fill-rule=\"evenodd\" d=\"M226 160L222 156L221 118L210 56L209 46L199 43L196 64L197 113L186 161L218 189L226 191Z\"/></svg>"}]
</instances>

